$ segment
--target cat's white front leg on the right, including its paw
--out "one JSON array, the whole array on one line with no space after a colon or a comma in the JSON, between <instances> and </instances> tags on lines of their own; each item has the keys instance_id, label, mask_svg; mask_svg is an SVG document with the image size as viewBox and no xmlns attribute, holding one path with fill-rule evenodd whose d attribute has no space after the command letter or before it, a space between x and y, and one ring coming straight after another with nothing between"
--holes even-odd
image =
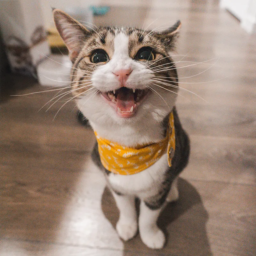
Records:
<instances>
[{"instance_id":1,"label":"cat's white front leg on the right, including its paw","mask_svg":"<svg viewBox=\"0 0 256 256\"><path fill-rule=\"evenodd\" d=\"M164 247L164 232L156 225L158 216L164 206L165 204L158 209L152 209L150 206L146 205L144 201L140 203L140 237L143 243L152 249L161 249Z\"/></svg>"}]
</instances>

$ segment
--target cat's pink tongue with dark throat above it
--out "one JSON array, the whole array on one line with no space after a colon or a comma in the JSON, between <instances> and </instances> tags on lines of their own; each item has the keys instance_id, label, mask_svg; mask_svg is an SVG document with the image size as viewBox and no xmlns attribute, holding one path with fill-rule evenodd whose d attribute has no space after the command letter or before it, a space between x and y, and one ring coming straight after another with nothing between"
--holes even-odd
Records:
<instances>
[{"instance_id":1,"label":"cat's pink tongue with dark throat above it","mask_svg":"<svg viewBox=\"0 0 256 256\"><path fill-rule=\"evenodd\" d=\"M135 108L134 94L132 90L122 87L116 93L116 108L119 108L118 112L132 113Z\"/></svg>"}]
</instances>

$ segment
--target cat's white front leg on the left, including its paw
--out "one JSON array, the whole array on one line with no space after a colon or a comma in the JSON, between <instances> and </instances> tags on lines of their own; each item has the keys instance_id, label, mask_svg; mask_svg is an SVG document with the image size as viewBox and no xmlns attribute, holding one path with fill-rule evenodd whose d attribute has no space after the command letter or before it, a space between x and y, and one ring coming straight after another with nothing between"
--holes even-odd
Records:
<instances>
[{"instance_id":1,"label":"cat's white front leg on the left, including its paw","mask_svg":"<svg viewBox=\"0 0 256 256\"><path fill-rule=\"evenodd\" d=\"M138 230L135 196L117 195L114 191L112 194L119 209L116 231L124 241L127 241L134 237Z\"/></svg>"}]
</instances>

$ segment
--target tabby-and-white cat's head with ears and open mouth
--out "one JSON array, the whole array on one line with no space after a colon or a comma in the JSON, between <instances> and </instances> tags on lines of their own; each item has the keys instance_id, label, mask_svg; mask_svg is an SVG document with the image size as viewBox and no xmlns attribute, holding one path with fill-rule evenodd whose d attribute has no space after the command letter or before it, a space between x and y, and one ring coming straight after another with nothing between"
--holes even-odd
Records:
<instances>
[{"instance_id":1,"label":"tabby-and-white cat's head with ears and open mouth","mask_svg":"<svg viewBox=\"0 0 256 256\"><path fill-rule=\"evenodd\" d=\"M162 32L88 29L60 10L53 15L73 62L72 93L90 121L160 122L172 110L178 77L171 55L180 21Z\"/></svg>"}]
</instances>

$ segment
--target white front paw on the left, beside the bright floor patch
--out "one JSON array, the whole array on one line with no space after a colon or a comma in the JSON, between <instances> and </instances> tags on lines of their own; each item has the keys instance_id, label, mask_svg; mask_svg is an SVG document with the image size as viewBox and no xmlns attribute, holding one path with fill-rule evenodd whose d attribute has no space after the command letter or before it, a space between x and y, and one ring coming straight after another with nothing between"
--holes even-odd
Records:
<instances>
[{"instance_id":1,"label":"white front paw on the left, beside the bright floor patch","mask_svg":"<svg viewBox=\"0 0 256 256\"><path fill-rule=\"evenodd\" d=\"M138 230L137 221L127 221L127 220L118 220L116 224L116 231L118 235L124 240L127 241L136 235Z\"/></svg>"}]
</instances>

